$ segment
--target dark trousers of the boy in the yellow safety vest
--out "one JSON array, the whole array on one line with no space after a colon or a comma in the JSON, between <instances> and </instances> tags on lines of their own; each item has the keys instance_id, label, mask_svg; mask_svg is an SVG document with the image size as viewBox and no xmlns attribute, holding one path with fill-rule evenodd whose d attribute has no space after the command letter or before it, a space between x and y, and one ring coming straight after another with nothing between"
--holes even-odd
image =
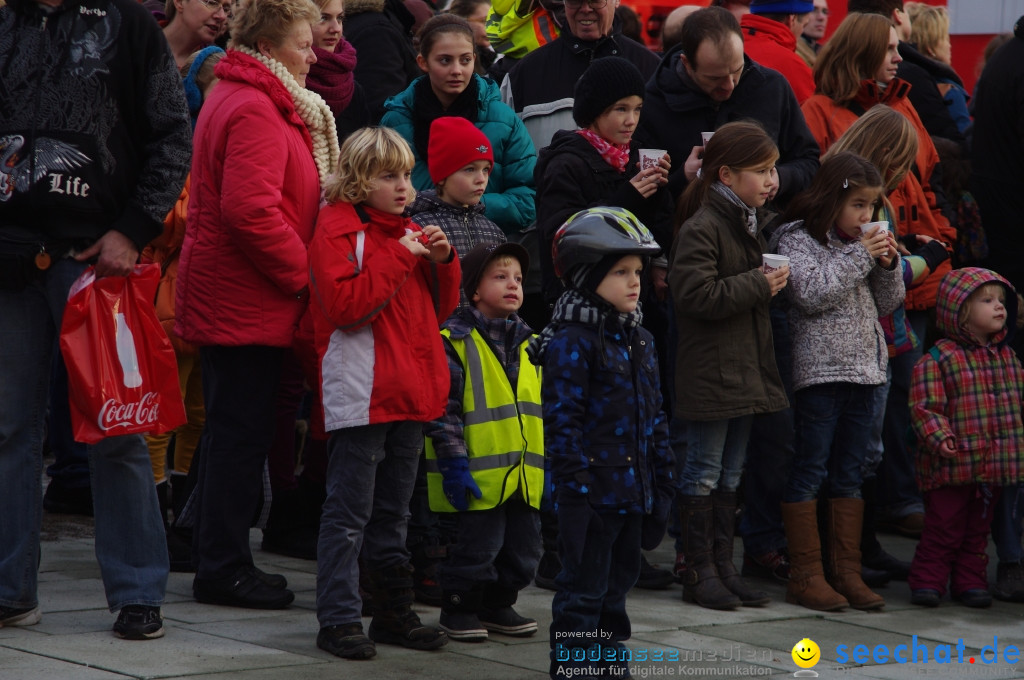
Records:
<instances>
[{"instance_id":1,"label":"dark trousers of the boy in the yellow safety vest","mask_svg":"<svg viewBox=\"0 0 1024 680\"><path fill-rule=\"evenodd\" d=\"M541 561L541 513L520 499L497 508L457 512L458 540L441 563L441 588L470 590L497 583L522 590Z\"/></svg>"}]
</instances>

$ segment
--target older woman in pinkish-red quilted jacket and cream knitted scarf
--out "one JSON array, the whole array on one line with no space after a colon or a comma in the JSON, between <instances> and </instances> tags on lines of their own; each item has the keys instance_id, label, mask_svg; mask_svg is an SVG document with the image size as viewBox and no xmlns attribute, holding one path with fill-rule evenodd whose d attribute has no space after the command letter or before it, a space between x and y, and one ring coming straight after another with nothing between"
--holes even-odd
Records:
<instances>
[{"instance_id":1,"label":"older woman in pinkish-red quilted jacket and cream knitted scarf","mask_svg":"<svg viewBox=\"0 0 1024 680\"><path fill-rule=\"evenodd\" d=\"M196 124L175 332L200 347L207 410L193 499L200 602L273 609L294 599L283 577L253 563L249 527L282 362L307 307L321 183L338 162L334 116L305 89L319 14L310 0L236 5Z\"/></svg>"}]
</instances>

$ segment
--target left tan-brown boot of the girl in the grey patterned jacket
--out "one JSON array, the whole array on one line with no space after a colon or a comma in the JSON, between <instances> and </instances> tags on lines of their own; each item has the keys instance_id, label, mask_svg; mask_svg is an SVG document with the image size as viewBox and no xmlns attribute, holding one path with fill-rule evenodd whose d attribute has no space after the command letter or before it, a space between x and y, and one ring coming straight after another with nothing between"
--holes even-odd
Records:
<instances>
[{"instance_id":1,"label":"left tan-brown boot of the girl in the grey patterned jacket","mask_svg":"<svg viewBox=\"0 0 1024 680\"><path fill-rule=\"evenodd\" d=\"M785 601L817 611L839 611L850 603L825 581L817 505L817 501L782 504L782 524L790 544Z\"/></svg>"}]
</instances>

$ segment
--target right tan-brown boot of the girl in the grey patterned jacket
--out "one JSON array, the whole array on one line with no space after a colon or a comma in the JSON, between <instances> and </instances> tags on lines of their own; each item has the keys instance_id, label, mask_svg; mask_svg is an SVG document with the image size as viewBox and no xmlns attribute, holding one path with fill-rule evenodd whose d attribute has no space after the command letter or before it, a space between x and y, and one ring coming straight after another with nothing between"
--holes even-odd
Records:
<instances>
[{"instance_id":1,"label":"right tan-brown boot of the girl in the grey patterned jacket","mask_svg":"<svg viewBox=\"0 0 1024 680\"><path fill-rule=\"evenodd\" d=\"M828 499L829 584L854 609L881 609L885 599L860 578L860 529L864 501L859 498Z\"/></svg>"}]
</instances>

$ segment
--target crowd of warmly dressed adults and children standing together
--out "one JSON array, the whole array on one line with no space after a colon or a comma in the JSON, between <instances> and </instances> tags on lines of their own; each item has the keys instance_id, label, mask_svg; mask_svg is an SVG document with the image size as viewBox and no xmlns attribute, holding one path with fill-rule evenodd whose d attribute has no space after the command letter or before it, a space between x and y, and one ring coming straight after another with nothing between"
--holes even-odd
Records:
<instances>
[{"instance_id":1,"label":"crowd of warmly dressed adults and children standing together","mask_svg":"<svg viewBox=\"0 0 1024 680\"><path fill-rule=\"evenodd\" d=\"M634 587L1024 602L1024 17L969 93L942 7L711 4L0 2L0 627L44 508L125 639L169 570L289 606L254 526L351 660L535 635L531 583L552 678L628 677ZM63 304L137 263L187 422L79 443Z\"/></svg>"}]
</instances>

